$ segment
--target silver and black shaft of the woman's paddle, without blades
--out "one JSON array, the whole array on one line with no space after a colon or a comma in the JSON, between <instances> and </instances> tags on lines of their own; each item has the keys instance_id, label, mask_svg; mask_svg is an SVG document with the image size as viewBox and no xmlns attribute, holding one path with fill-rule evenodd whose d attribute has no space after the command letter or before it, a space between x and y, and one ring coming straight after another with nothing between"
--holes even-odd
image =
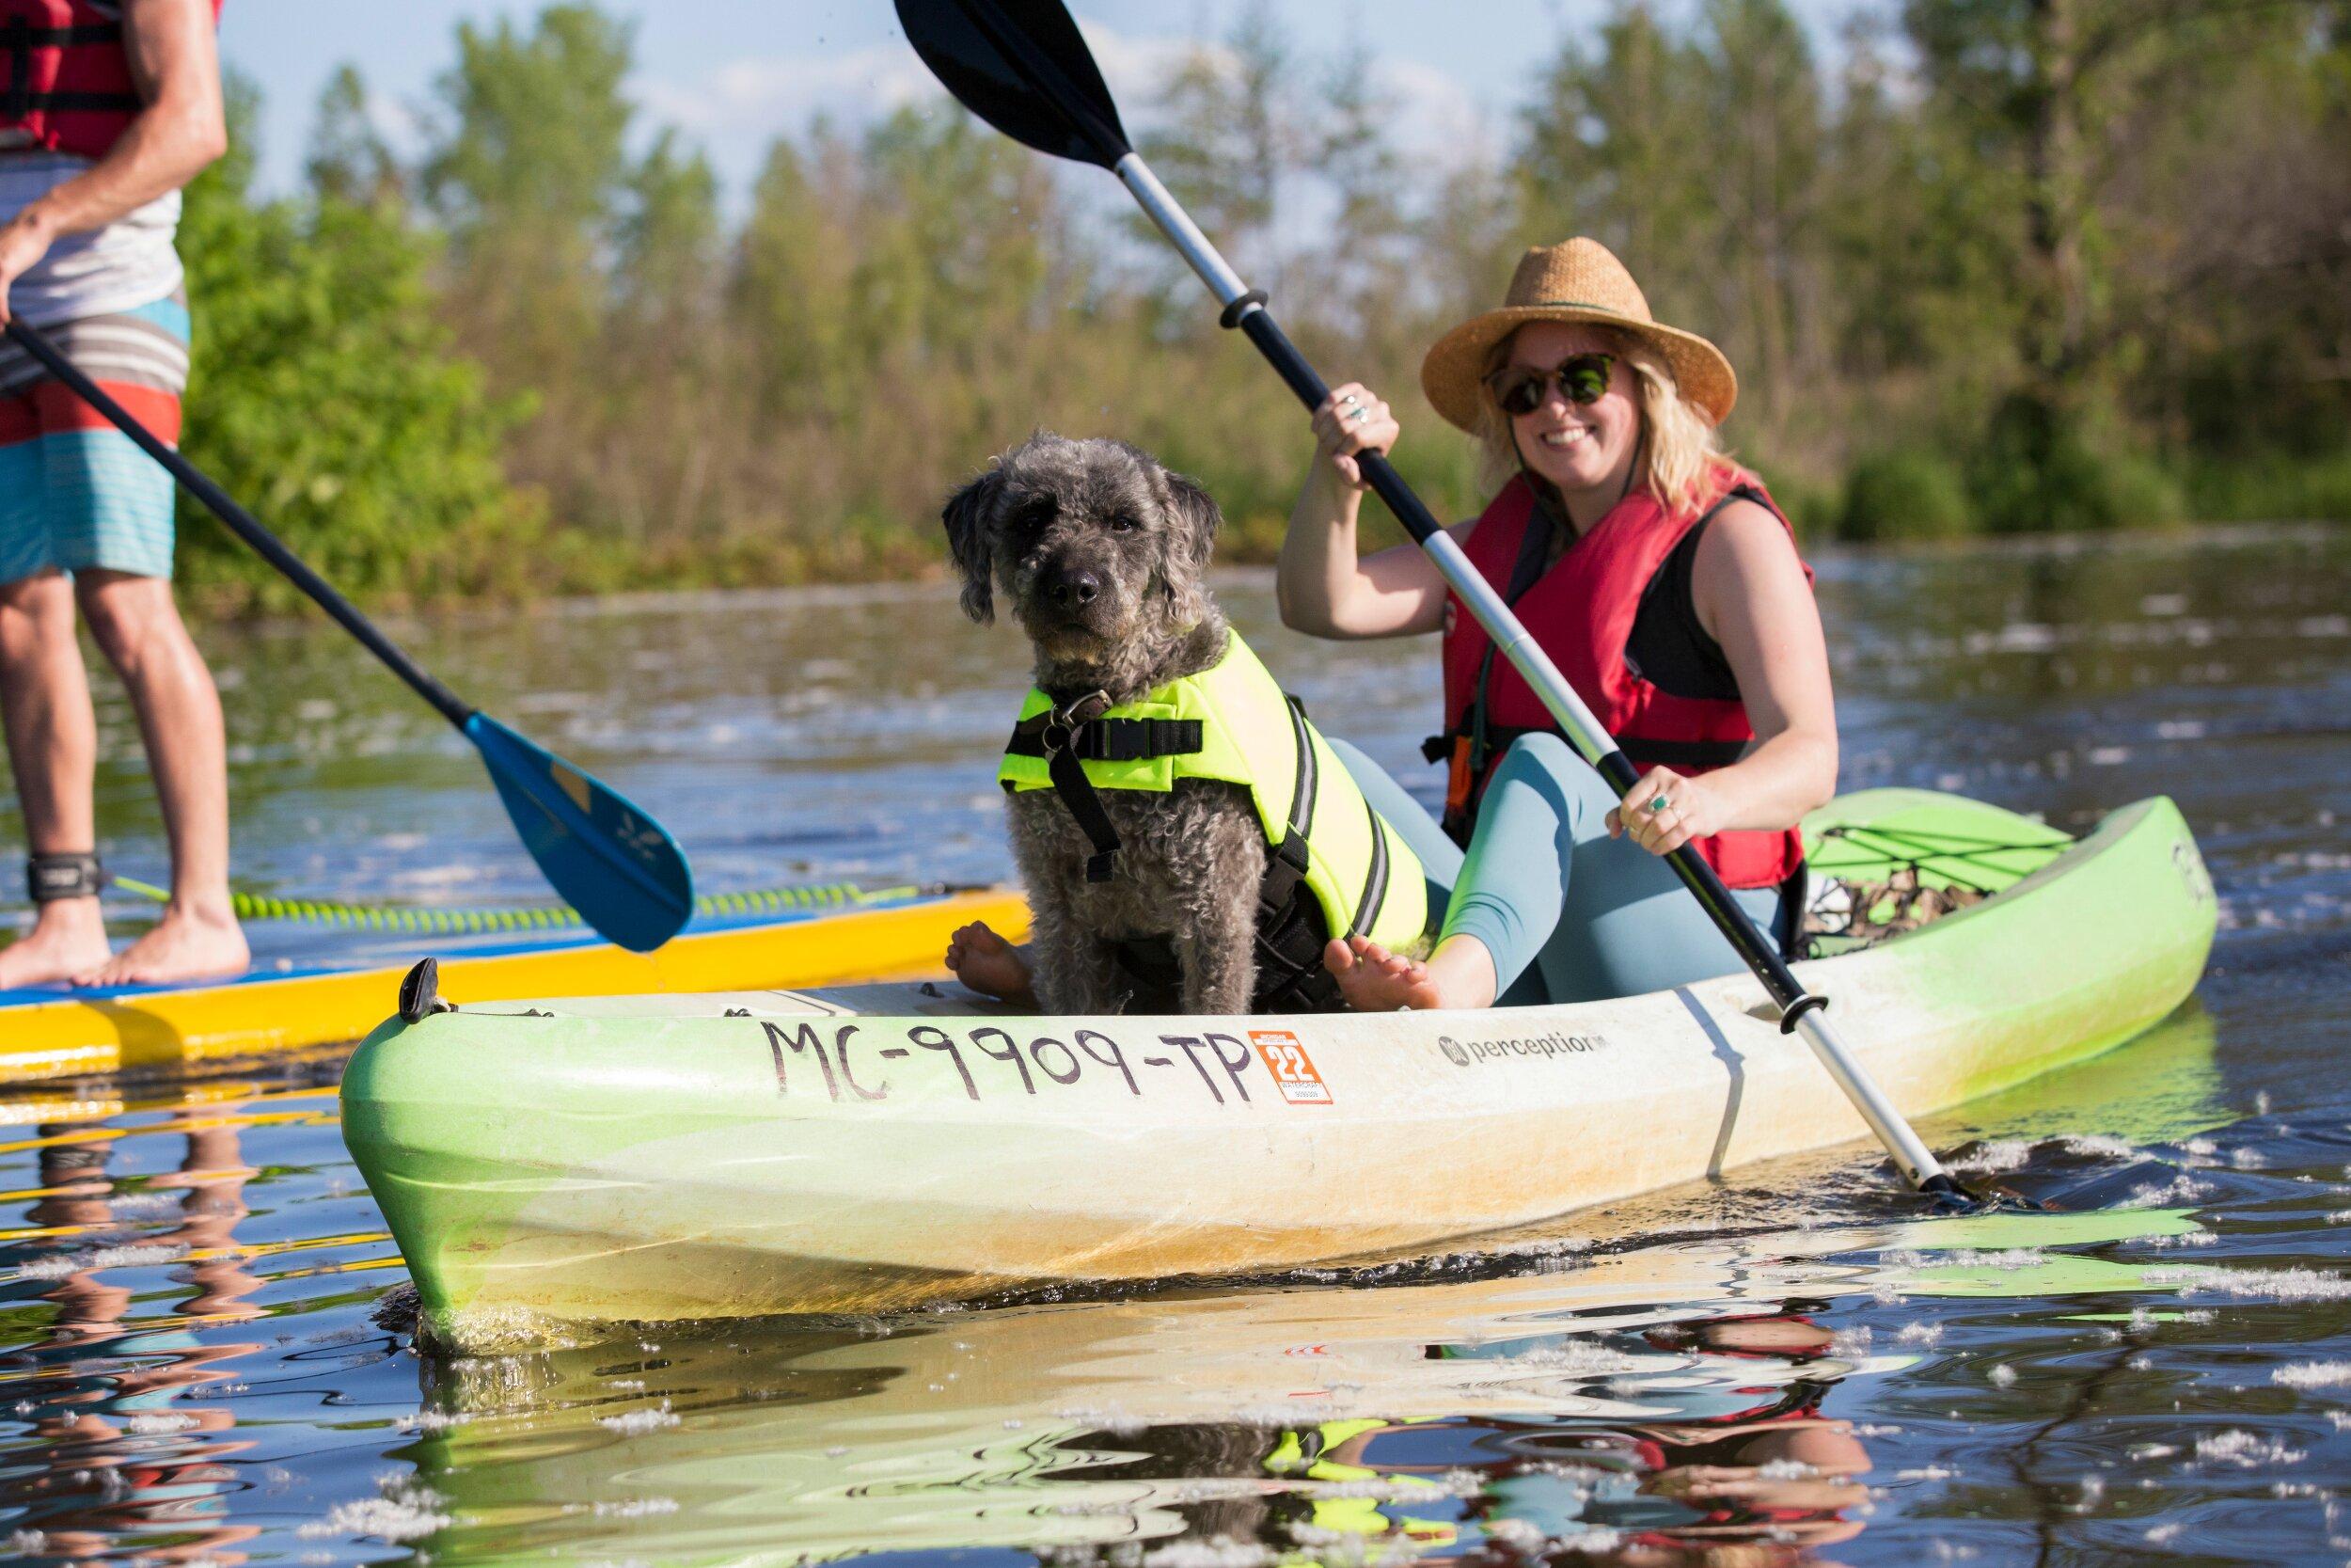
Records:
<instances>
[{"instance_id":1,"label":"silver and black shaft of the woman's paddle, without blades","mask_svg":"<svg viewBox=\"0 0 2351 1568\"><path fill-rule=\"evenodd\" d=\"M1152 174L1140 153L1126 153L1112 165L1112 172L1126 183L1128 193L1133 193L1143 212L1150 214L1152 223L1159 226L1159 233L1164 233L1192 270L1199 273L1201 282L1208 284L1208 292L1215 294L1218 303L1225 306L1225 327L1239 327L1241 334L1258 346L1258 353L1265 355L1274 371L1281 374L1288 388L1298 393L1298 402L1307 404L1307 409L1319 409L1324 400L1331 397L1331 388L1324 386L1324 378L1312 364L1307 364L1307 357L1298 353L1298 346L1281 331L1281 324L1274 322L1272 313L1265 308L1265 294L1258 294L1241 282L1241 275L1225 263L1215 244L1208 242L1168 188L1159 183L1159 176ZM1469 614L1476 616L1479 625L1486 628L1502 658L1516 665L1519 675L1526 677L1526 684L1538 698L1542 698L1542 705L1559 722L1568 743L1575 745L1585 762L1599 769L1601 778L1608 780L1608 788L1617 795L1629 795L1641 783L1641 771L1634 769L1632 759L1608 738L1599 717L1594 717L1592 708L1585 705L1585 698L1578 696L1575 686L1568 684L1568 677L1559 672L1559 665L1552 663L1552 656L1542 651L1502 595L1495 592L1493 583L1486 581L1486 574L1481 574L1453 536L1444 531L1429 508L1422 505L1420 496L1413 494L1413 487L1404 482L1404 475L1396 473L1394 463L1389 463L1385 454L1359 451L1354 461L1371 489L1387 503L1387 510L1396 515L1396 522L1404 524L1404 531L1413 536L1432 562L1436 562L1439 576L1446 578ZM1824 1016L1827 1001L1803 990L1803 983L1787 966L1787 959L1780 957L1777 943L1773 943L1747 914L1747 910L1730 898L1730 889L1723 886L1723 879L1714 872L1714 867L1707 865L1690 844L1669 853L1667 863L1674 867L1674 875L1681 877L1681 884L1690 889L1697 903L1707 910L1714 929L1723 933L1733 950L1737 950L1740 959L1749 971L1754 971L1756 980L1763 983L1763 990L1780 1006L1780 1027L1784 1032L1803 1034L1813 1056L1820 1058L1820 1065L1827 1067L1836 1086L1846 1091L1848 1100L1853 1100L1853 1107L1862 1114L1862 1121L1869 1124L1869 1131L1876 1133L1878 1143L1883 1143L1893 1154L1902 1175L1921 1190L1956 1194L1958 1182L1951 1180L1951 1175L1942 1168L1942 1161L1937 1161L1925 1143L1918 1140L1918 1133L1911 1131L1902 1112L1895 1110L1893 1100L1886 1098L1860 1060L1855 1060L1846 1041L1838 1039Z\"/></svg>"}]
</instances>

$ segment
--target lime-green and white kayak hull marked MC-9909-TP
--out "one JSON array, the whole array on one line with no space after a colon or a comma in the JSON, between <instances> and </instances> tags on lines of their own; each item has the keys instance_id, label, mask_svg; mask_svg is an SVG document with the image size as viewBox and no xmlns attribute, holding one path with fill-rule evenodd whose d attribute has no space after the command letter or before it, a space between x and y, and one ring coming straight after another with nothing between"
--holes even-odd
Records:
<instances>
[{"instance_id":1,"label":"lime-green and white kayak hull marked MC-9909-TP","mask_svg":"<svg viewBox=\"0 0 2351 1568\"><path fill-rule=\"evenodd\" d=\"M2193 990L2215 900L2170 802L2043 860L1799 966L1907 1114ZM463 1006L360 1046L343 1131L430 1331L489 1347L1427 1248L1867 1128L1740 973L1317 1018L1034 1018L936 985Z\"/></svg>"}]
</instances>

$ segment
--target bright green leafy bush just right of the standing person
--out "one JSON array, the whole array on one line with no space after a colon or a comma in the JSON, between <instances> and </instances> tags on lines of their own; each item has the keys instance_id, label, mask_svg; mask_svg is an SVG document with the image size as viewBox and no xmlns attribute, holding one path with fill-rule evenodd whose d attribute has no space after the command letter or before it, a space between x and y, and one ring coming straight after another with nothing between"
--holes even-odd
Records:
<instances>
[{"instance_id":1,"label":"bright green leafy bush just right of the standing person","mask_svg":"<svg viewBox=\"0 0 2351 1568\"><path fill-rule=\"evenodd\" d=\"M249 195L252 101L188 190L188 456L350 592L498 585L534 527L501 470L510 404L437 324L433 242L397 212ZM508 557L510 559L510 557ZM181 567L233 597L292 595L190 501Z\"/></svg>"}]
</instances>

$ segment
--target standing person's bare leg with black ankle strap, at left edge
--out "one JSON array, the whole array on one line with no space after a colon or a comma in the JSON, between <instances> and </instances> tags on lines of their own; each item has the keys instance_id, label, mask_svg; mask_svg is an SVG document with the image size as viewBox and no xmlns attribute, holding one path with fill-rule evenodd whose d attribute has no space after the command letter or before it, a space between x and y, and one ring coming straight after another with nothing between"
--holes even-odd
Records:
<instances>
[{"instance_id":1,"label":"standing person's bare leg with black ankle strap, at left edge","mask_svg":"<svg viewBox=\"0 0 2351 1568\"><path fill-rule=\"evenodd\" d=\"M14 515L31 489L0 487L0 552L12 559L9 541L21 545L35 527ZM92 853L99 733L82 644L73 635L73 583L54 569L0 583L0 719L31 853ZM35 905L28 936L0 947L0 990L68 980L106 959L96 896L52 898Z\"/></svg>"}]
</instances>

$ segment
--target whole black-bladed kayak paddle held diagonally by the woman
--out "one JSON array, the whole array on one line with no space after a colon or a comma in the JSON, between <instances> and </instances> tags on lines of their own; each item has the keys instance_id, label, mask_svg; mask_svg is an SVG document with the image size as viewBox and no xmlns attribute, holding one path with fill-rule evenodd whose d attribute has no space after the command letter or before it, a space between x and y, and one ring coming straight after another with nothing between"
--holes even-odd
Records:
<instances>
[{"instance_id":1,"label":"whole black-bladed kayak paddle held diagonally by the woman","mask_svg":"<svg viewBox=\"0 0 2351 1568\"><path fill-rule=\"evenodd\" d=\"M1305 355L1274 324L1265 308L1265 289L1241 282L1208 237L1192 221L1192 214L1168 195L1150 165L1128 146L1119 125L1119 108L1103 85L1103 73L1077 31L1077 21L1060 0L896 0L898 21L905 38L931 68L931 73L980 120L1053 158L1100 165L1119 176L1143 212L1159 226L1183 259L1199 273L1208 292L1225 306L1223 324L1239 327L1258 346L1281 378L1298 393L1307 409L1321 407L1331 388L1314 374ZM1542 705L1559 719L1561 731L1582 752L1585 762L1599 769L1601 778L1617 795L1632 795L1641 783L1639 769L1617 750L1601 729L1559 665L1535 644L1502 595L1479 574L1453 536L1446 534L1420 496L1404 482L1380 451L1357 454L1357 465L1380 494L1387 510L1436 562L1453 592L1460 595L1469 614L1493 637L1495 646L1519 668ZM1822 1009L1824 997L1803 990L1803 983L1780 957L1780 947L1756 929L1754 919L1733 903L1723 879L1714 867L1683 844L1672 856L1674 872L1683 886L1704 905L1723 938L1737 950L1747 969L1754 971L1763 990L1780 1006L1780 1032L1803 1034L1806 1044L1846 1091L1853 1107L1893 1154L1895 1166L1921 1192L1947 1201L1975 1201L1975 1197L1942 1168L1911 1131L1893 1100L1869 1079L1846 1041L1838 1039Z\"/></svg>"}]
</instances>

